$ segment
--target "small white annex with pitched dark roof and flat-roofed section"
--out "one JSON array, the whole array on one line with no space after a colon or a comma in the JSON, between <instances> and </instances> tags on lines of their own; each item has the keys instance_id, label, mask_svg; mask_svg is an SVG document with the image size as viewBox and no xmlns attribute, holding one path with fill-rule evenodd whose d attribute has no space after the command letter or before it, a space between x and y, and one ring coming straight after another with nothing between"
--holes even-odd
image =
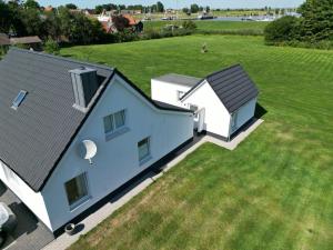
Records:
<instances>
[{"instance_id":1,"label":"small white annex with pitched dark roof and flat-roofed section","mask_svg":"<svg viewBox=\"0 0 333 250\"><path fill-rule=\"evenodd\" d=\"M203 79L171 73L151 80L153 100L194 111L194 129L223 140L230 140L254 117L258 96L240 64Z\"/></svg>"}]
</instances>

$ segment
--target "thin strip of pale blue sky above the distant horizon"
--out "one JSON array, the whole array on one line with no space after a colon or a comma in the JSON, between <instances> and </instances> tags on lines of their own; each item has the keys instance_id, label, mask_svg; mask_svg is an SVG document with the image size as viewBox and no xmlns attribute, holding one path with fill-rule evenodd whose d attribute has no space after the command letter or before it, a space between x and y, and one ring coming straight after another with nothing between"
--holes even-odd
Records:
<instances>
[{"instance_id":1,"label":"thin strip of pale blue sky above the distant horizon","mask_svg":"<svg viewBox=\"0 0 333 250\"><path fill-rule=\"evenodd\" d=\"M53 1L48 1L48 0L39 0L38 1L41 6L61 6L61 4L65 4L69 2L75 3L77 6L79 6L80 8L93 8L97 4L102 4L102 3L121 3L121 4L153 4L157 2L157 0L148 0L148 1L143 1L143 0L53 0ZM282 7L297 7L300 6L302 2L304 2L304 0L203 0L203 1L196 1L196 0L161 0L161 2L163 2L163 4L167 8L175 8L176 7L176 2L179 7L185 7L185 6L190 6L191 3L198 3L200 6L211 6L213 8L262 8L265 6L269 7L278 7L278 8L282 8Z\"/></svg>"}]
</instances>

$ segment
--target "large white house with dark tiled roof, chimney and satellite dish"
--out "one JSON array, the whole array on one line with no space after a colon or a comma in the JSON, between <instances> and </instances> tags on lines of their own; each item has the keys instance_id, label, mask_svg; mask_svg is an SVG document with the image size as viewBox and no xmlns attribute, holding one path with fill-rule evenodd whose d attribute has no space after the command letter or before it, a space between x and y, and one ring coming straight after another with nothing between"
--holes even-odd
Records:
<instances>
[{"instance_id":1,"label":"large white house with dark tiled roof, chimney and satellite dish","mask_svg":"<svg viewBox=\"0 0 333 250\"><path fill-rule=\"evenodd\" d=\"M193 112L117 69L19 49L0 116L0 180L53 232L193 137Z\"/></svg>"}]
</instances>

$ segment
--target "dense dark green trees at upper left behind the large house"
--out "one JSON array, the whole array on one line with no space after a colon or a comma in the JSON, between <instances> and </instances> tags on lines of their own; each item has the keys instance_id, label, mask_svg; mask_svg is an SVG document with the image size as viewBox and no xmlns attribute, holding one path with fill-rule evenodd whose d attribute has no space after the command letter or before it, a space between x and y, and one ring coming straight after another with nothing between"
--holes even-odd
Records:
<instances>
[{"instance_id":1,"label":"dense dark green trees at upper left behind the large house","mask_svg":"<svg viewBox=\"0 0 333 250\"><path fill-rule=\"evenodd\" d=\"M97 19L90 19L80 11L72 11L74 6L59 7L52 11L34 0L0 0L0 32L11 36L39 36L58 42L91 43L103 38L104 31Z\"/></svg>"}]
</instances>

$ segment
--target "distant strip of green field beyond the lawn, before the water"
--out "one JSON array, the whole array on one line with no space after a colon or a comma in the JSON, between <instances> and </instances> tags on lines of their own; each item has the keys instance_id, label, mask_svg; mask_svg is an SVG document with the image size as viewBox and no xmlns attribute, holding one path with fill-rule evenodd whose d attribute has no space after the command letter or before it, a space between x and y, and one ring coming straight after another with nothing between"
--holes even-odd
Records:
<instances>
[{"instance_id":1,"label":"distant strip of green field beyond the lawn, before the water","mask_svg":"<svg viewBox=\"0 0 333 250\"><path fill-rule=\"evenodd\" d=\"M167 24L181 26L183 21L148 21L144 22L144 29L162 29ZM256 30L262 31L266 22L250 21L194 21L199 31L219 31L219 30Z\"/></svg>"}]
</instances>

